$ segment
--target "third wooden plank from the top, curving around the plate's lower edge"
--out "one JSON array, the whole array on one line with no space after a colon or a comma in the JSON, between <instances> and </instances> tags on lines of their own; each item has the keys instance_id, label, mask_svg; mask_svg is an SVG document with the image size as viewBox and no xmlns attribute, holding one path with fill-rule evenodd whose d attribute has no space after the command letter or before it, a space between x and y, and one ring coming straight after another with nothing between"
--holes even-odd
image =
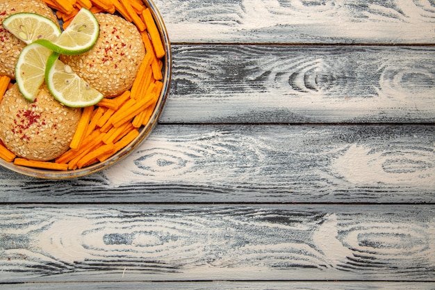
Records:
<instances>
[{"instance_id":1,"label":"third wooden plank from the top, curving around the plate's lower edge","mask_svg":"<svg viewBox=\"0 0 435 290\"><path fill-rule=\"evenodd\" d=\"M433 203L434 133L421 125L158 125L126 159L89 177L0 170L0 202Z\"/></svg>"}]
</instances>

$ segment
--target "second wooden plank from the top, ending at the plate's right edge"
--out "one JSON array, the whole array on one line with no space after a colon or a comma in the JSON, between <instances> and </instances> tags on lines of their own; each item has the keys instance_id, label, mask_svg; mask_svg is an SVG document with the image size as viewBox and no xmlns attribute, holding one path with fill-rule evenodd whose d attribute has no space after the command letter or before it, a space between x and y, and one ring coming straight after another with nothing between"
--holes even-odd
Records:
<instances>
[{"instance_id":1,"label":"second wooden plank from the top, ending at the plate's right edge","mask_svg":"<svg viewBox=\"0 0 435 290\"><path fill-rule=\"evenodd\" d=\"M174 45L173 51L161 123L435 122L435 47Z\"/></svg>"}]
</instances>

